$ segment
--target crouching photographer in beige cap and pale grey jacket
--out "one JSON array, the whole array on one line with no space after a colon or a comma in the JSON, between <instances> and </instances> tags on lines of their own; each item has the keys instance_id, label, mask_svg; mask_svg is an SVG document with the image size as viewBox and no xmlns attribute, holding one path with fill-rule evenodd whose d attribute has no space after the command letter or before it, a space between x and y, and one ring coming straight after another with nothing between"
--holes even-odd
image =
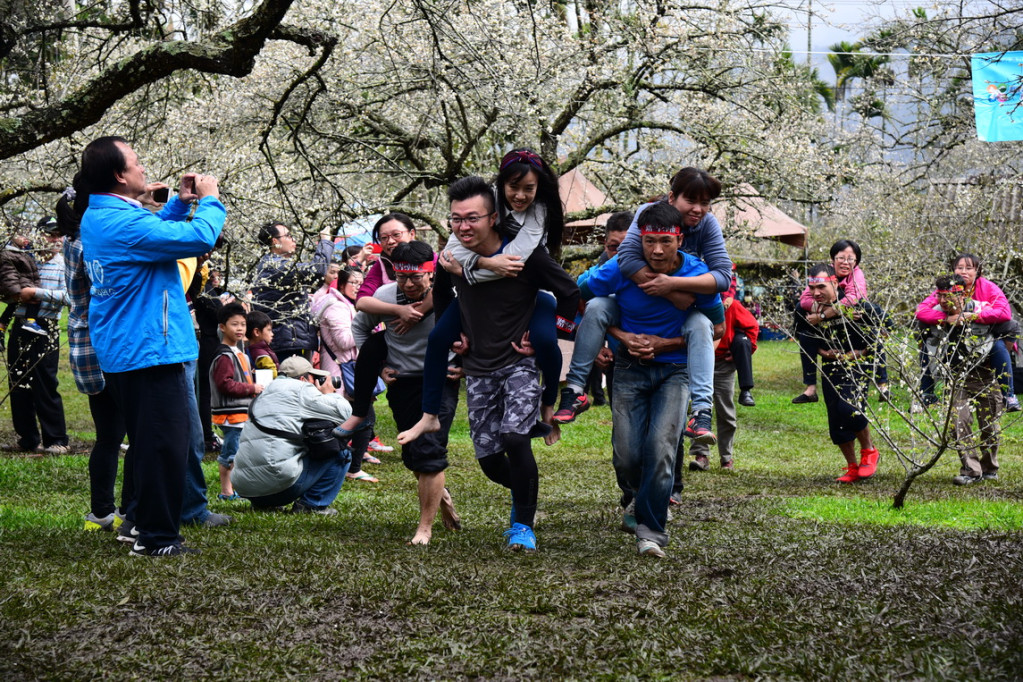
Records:
<instances>
[{"instance_id":1,"label":"crouching photographer in beige cap and pale grey jacket","mask_svg":"<svg viewBox=\"0 0 1023 682\"><path fill-rule=\"evenodd\" d=\"M337 514L351 454L333 437L352 408L328 372L293 356L253 400L231 472L234 490L257 509L294 502L293 512Z\"/></svg>"}]
</instances>

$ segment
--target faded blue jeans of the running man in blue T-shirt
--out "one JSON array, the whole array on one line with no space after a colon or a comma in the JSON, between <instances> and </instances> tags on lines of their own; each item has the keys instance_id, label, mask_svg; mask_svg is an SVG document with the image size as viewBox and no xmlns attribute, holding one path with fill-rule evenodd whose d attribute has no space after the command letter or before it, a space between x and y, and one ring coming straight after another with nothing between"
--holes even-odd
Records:
<instances>
[{"instance_id":1,"label":"faded blue jeans of the running man in blue T-shirt","mask_svg":"<svg viewBox=\"0 0 1023 682\"><path fill-rule=\"evenodd\" d=\"M685 365L643 364L623 352L615 359L615 474L634 496L636 537L662 547L687 383Z\"/></svg>"}]
</instances>

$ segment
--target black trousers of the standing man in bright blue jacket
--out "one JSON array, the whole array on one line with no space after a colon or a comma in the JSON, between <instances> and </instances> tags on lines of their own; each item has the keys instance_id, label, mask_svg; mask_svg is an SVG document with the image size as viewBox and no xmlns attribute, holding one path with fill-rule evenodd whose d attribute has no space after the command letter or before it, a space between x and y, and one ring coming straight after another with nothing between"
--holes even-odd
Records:
<instances>
[{"instance_id":1,"label":"black trousers of the standing man in bright blue jacket","mask_svg":"<svg viewBox=\"0 0 1023 682\"><path fill-rule=\"evenodd\" d=\"M147 549L177 542L189 457L188 392L181 364L106 375L125 416L131 443L133 518ZM125 470L128 473L129 463ZM134 512L134 513L132 513Z\"/></svg>"}]
</instances>

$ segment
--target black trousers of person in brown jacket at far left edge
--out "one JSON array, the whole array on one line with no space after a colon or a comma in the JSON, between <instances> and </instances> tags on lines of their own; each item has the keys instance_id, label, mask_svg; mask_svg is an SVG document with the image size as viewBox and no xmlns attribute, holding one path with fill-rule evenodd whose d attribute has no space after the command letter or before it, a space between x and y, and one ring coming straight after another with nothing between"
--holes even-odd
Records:
<instances>
[{"instance_id":1,"label":"black trousers of person in brown jacket at far left edge","mask_svg":"<svg viewBox=\"0 0 1023 682\"><path fill-rule=\"evenodd\" d=\"M43 447L68 445L63 401L57 393L60 330L56 320L36 321L46 329L45 336L23 331L24 320L17 318L7 343L10 417L17 445L24 450L35 450L40 444L40 430Z\"/></svg>"}]
</instances>

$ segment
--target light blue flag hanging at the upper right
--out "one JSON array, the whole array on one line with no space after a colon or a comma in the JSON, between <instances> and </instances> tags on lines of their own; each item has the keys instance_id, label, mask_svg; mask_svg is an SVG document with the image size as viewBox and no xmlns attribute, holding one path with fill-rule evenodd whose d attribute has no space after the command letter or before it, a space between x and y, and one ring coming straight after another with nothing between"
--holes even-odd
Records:
<instances>
[{"instance_id":1,"label":"light blue flag hanging at the upper right","mask_svg":"<svg viewBox=\"0 0 1023 682\"><path fill-rule=\"evenodd\" d=\"M1023 52L986 52L971 58L977 137L1023 140Z\"/></svg>"}]
</instances>

